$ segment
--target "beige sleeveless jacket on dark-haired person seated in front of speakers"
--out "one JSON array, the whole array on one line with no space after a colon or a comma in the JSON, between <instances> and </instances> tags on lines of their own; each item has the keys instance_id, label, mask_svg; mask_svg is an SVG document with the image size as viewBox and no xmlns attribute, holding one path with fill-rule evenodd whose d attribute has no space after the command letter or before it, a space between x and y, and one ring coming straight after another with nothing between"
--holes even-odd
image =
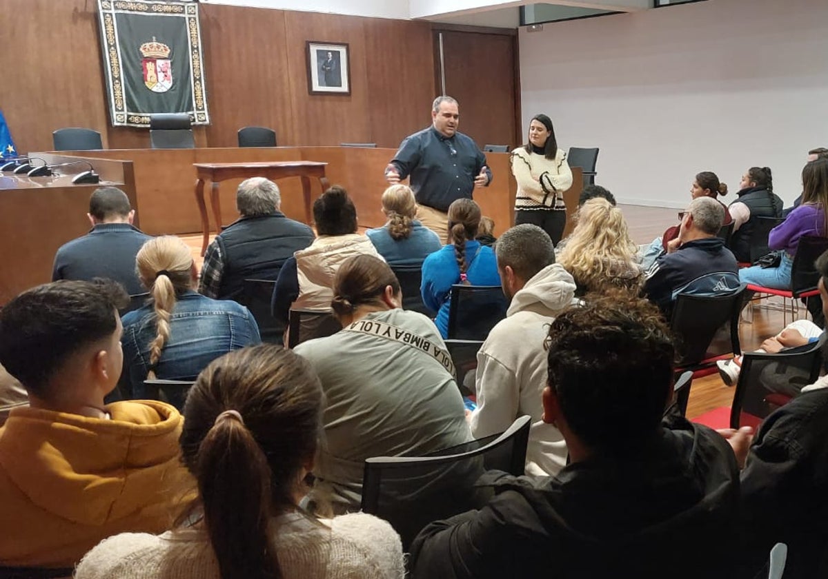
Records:
<instances>
[{"instance_id":1,"label":"beige sleeveless jacket on dark-haired person seated in front of speakers","mask_svg":"<svg viewBox=\"0 0 828 579\"><path fill-rule=\"evenodd\" d=\"M383 259L371 240L359 233L316 237L309 247L296 251L293 255L296 257L299 297L291 309L330 310L330 300L334 297L331 286L339 266L350 256L361 253Z\"/></svg>"}]
</instances>

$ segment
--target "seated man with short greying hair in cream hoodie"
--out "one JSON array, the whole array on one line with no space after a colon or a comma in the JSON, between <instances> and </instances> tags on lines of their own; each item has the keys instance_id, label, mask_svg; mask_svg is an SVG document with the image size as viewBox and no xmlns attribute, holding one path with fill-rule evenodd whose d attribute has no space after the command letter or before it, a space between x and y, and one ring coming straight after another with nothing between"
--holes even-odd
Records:
<instances>
[{"instance_id":1,"label":"seated man with short greying hair in cream hoodie","mask_svg":"<svg viewBox=\"0 0 828 579\"><path fill-rule=\"evenodd\" d=\"M492 328L477 355L478 407L469 414L474 438L502 433L520 416L532 417L527 473L555 475L566 465L561 431L541 419L546 381L546 328L575 295L575 280L555 263L555 247L540 227L528 223L503 233L494 251L506 318Z\"/></svg>"}]
</instances>

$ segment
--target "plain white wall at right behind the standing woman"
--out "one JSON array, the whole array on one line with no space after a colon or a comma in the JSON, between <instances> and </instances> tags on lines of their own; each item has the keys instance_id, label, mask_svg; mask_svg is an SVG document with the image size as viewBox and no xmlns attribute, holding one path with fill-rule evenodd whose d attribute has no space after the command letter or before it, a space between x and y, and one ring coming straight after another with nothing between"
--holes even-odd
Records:
<instances>
[{"instance_id":1,"label":"plain white wall at right behind the standing woman","mask_svg":"<svg viewBox=\"0 0 828 579\"><path fill-rule=\"evenodd\" d=\"M520 31L523 124L599 146L596 182L625 203L683 208L701 170L773 170L787 203L828 146L828 2L710 0Z\"/></svg>"}]
</instances>

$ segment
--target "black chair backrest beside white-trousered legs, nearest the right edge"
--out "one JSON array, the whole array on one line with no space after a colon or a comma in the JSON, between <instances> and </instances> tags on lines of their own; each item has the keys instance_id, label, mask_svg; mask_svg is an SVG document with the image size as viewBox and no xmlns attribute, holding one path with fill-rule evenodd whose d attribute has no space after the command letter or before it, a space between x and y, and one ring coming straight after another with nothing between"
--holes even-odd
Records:
<instances>
[{"instance_id":1,"label":"black chair backrest beside white-trousered legs, nearest the right edge","mask_svg":"<svg viewBox=\"0 0 828 579\"><path fill-rule=\"evenodd\" d=\"M792 397L813 384L820 374L825 339L823 335L817 342L777 354L745 352L730 407L730 426L755 426L776 408L766 400L768 395Z\"/></svg>"}]
</instances>

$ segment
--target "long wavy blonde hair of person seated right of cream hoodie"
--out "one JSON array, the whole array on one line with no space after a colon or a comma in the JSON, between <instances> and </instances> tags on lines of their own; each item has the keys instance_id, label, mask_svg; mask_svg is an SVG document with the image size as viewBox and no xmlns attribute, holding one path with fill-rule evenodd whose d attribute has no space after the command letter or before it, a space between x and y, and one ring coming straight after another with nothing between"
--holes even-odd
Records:
<instances>
[{"instance_id":1,"label":"long wavy blonde hair of person seated right of cream hoodie","mask_svg":"<svg viewBox=\"0 0 828 579\"><path fill-rule=\"evenodd\" d=\"M621 209L606 199L590 199L577 215L575 229L557 256L558 263L575 278L575 295L613 288L638 292L638 246L629 237Z\"/></svg>"}]
</instances>

